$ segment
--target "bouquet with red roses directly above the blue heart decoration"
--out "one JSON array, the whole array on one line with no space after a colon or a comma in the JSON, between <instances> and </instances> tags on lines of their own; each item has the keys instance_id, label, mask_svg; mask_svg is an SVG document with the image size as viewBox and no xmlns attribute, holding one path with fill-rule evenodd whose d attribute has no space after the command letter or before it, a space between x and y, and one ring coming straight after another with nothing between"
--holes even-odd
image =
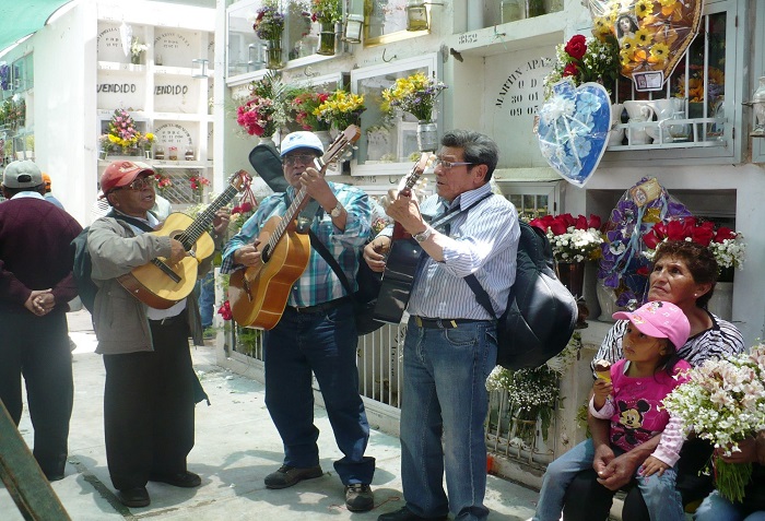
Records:
<instances>
[{"instance_id":1,"label":"bouquet with red roses directly above the blue heart decoration","mask_svg":"<svg viewBox=\"0 0 765 521\"><path fill-rule=\"evenodd\" d=\"M619 45L613 36L574 35L566 44L555 47L555 57L553 71L544 78L545 99L553 95L552 86L564 78L570 78L574 86L600 83L611 94L620 68Z\"/></svg>"}]
</instances>

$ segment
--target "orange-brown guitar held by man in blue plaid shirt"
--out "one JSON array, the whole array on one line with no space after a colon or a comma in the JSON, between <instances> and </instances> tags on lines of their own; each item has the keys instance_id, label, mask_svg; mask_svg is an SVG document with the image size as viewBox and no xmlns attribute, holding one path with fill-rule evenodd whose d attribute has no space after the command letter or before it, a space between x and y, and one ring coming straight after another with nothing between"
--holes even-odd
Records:
<instances>
[{"instance_id":1,"label":"orange-brown guitar held by man in blue plaid shirt","mask_svg":"<svg viewBox=\"0 0 765 521\"><path fill-rule=\"evenodd\" d=\"M314 167L323 173L360 137L361 129L350 126L315 159ZM272 329L281 319L292 285L308 265L310 242L307 233L298 232L297 216L309 199L303 187L284 215L266 221L258 235L260 263L231 274L228 303L239 325Z\"/></svg>"}]
</instances>

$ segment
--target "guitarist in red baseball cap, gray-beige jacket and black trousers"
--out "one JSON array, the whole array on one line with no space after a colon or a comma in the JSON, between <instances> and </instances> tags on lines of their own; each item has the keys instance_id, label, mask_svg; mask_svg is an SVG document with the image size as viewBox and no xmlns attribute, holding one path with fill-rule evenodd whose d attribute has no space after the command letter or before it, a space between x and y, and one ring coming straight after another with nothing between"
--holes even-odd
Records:
<instances>
[{"instance_id":1,"label":"guitarist in red baseball cap, gray-beige jacket and black trousers","mask_svg":"<svg viewBox=\"0 0 765 521\"><path fill-rule=\"evenodd\" d=\"M188 253L168 235L146 233L161 224L150 212L155 202L154 170L131 161L113 162L101 176L109 213L91 225L87 247L92 279L99 286L93 321L104 355L104 431L109 475L127 507L150 504L146 483L197 487L199 475L186 459L195 443L195 375L189 335L202 343L193 294L167 309L146 306L118 279L133 268L164 258L169 265ZM222 235L227 213L213 226ZM200 271L209 268L200 265ZM203 273L203 271L202 271Z\"/></svg>"}]
</instances>

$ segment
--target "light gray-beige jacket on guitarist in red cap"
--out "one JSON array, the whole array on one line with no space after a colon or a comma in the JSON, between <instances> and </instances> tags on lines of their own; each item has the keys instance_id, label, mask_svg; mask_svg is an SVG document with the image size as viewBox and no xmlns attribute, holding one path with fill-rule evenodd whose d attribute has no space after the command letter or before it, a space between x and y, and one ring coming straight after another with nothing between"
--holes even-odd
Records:
<instances>
[{"instance_id":1,"label":"light gray-beige jacket on guitarist in red cap","mask_svg":"<svg viewBox=\"0 0 765 521\"><path fill-rule=\"evenodd\" d=\"M153 351L146 305L117 282L133 268L156 257L170 256L170 238L153 234L136 235L127 223L113 217L96 220L87 233L87 249L98 286L93 324L98 339L96 353L115 355ZM209 263L202 263L202 267ZM207 270L205 270L207 271ZM193 292L186 300L191 336L202 345L202 325Z\"/></svg>"}]
</instances>

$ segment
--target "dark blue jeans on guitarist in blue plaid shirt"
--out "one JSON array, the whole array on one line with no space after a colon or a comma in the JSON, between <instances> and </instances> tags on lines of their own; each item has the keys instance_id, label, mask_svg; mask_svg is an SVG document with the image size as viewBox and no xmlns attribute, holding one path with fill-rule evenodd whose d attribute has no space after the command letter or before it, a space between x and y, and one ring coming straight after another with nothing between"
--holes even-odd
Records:
<instances>
[{"instance_id":1,"label":"dark blue jeans on guitarist in blue plaid shirt","mask_svg":"<svg viewBox=\"0 0 765 521\"><path fill-rule=\"evenodd\" d=\"M284 464L319 464L311 371L319 382L334 440L344 457L334 470L345 485L372 483L375 459L364 457L369 424L358 395L356 327L349 301L327 312L285 309L263 336L266 406L284 443Z\"/></svg>"}]
</instances>

